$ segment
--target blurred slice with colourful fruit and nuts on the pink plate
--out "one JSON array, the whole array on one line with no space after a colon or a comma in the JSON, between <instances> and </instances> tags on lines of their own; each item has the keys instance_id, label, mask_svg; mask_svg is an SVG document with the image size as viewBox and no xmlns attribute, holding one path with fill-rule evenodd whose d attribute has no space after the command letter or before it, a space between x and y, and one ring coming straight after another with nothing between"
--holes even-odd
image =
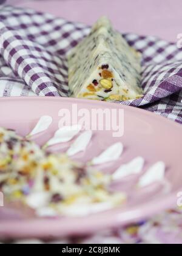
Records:
<instances>
[{"instance_id":1,"label":"blurred slice with colourful fruit and nuts on the pink plate","mask_svg":"<svg viewBox=\"0 0 182 256\"><path fill-rule=\"evenodd\" d=\"M121 206L126 194L110 189L112 176L51 154L15 131L0 127L0 191L38 216L83 216ZM21 209L19 209L21 210Z\"/></svg>"}]
</instances>

